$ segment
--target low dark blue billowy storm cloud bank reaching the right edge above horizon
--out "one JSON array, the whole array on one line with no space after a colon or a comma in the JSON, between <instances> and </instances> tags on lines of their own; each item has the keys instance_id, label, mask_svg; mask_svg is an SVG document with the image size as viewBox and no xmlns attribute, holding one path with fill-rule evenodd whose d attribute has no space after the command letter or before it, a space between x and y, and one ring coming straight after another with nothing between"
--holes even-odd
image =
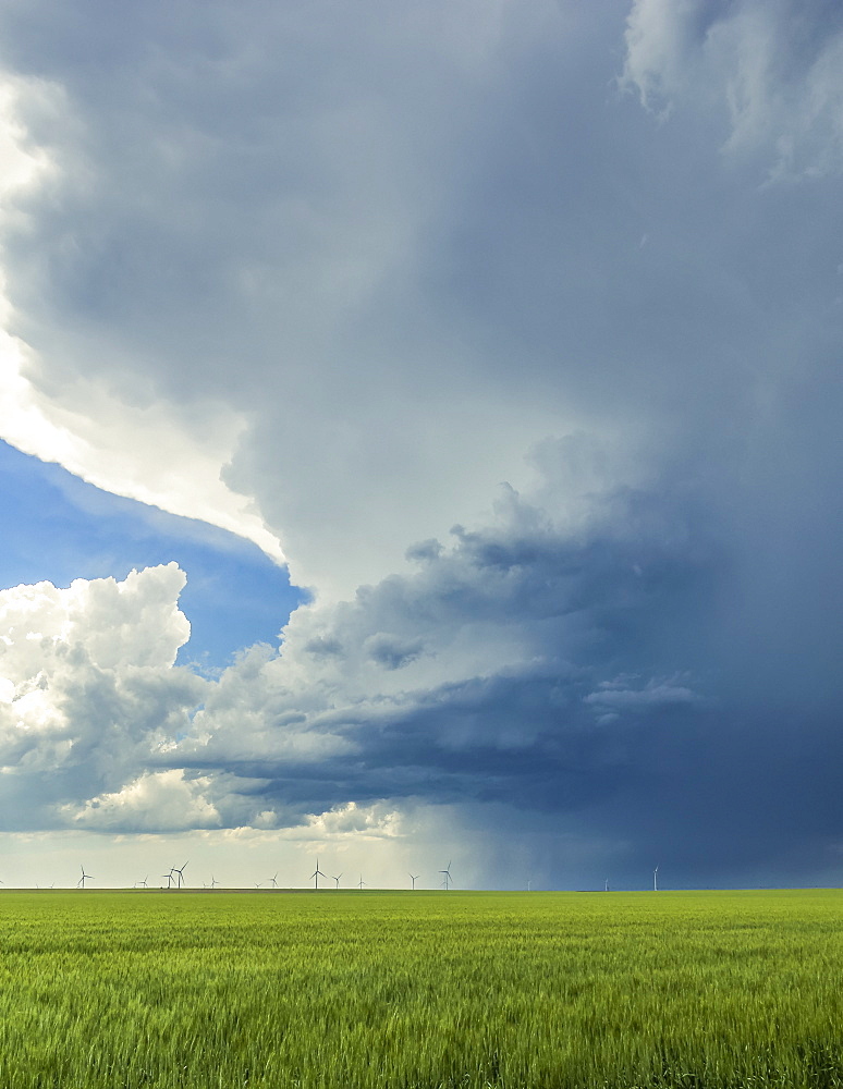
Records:
<instances>
[{"instance_id":1,"label":"low dark blue billowy storm cloud bank reaching the right edge above horizon","mask_svg":"<svg viewBox=\"0 0 843 1089\"><path fill-rule=\"evenodd\" d=\"M707 518L698 499L667 480L656 493L604 497L571 534L508 495L494 525L459 528L441 550L428 542L415 573L321 614L319 638L345 648L339 669L309 673L301 694L280 692L283 660L253 675L258 703L267 690L279 710L303 697L310 707L294 729L342 751L329 744L314 760L305 746L288 759L272 712L259 712L260 735L241 733L235 757L211 699L198 766L233 761L244 786L260 781L254 806L277 805L288 821L338 798L504 805L533 812L537 830L561 820L623 843L623 873L655 852L676 883L827 874L842 744L832 610L819 629L792 628L817 572L794 554L786 579L770 582L761 552L744 551L746 527L722 511ZM787 600L777 602L782 580ZM735 626L740 602L761 592L770 629L747 633ZM316 621L294 619L289 669ZM424 644L391 688L365 673L366 633L383 629ZM770 659L780 641L790 663ZM834 648L827 666L821 645ZM431 683L426 669L451 676Z\"/></svg>"}]
</instances>

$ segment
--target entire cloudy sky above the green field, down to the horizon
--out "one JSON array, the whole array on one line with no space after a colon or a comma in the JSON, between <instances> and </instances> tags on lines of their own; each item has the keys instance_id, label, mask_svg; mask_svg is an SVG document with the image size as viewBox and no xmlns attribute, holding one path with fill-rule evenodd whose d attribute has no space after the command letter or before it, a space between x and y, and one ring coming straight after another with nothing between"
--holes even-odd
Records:
<instances>
[{"instance_id":1,"label":"entire cloudy sky above the green field, down to the horizon","mask_svg":"<svg viewBox=\"0 0 843 1089\"><path fill-rule=\"evenodd\" d=\"M0 0L0 879L839 885L843 9Z\"/></svg>"}]
</instances>

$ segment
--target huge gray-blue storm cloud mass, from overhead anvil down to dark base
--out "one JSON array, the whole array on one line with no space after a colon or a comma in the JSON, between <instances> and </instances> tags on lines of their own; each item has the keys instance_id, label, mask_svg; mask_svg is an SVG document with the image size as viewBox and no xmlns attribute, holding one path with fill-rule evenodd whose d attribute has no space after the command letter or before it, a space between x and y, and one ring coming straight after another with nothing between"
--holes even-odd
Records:
<instances>
[{"instance_id":1,"label":"huge gray-blue storm cloud mass, from overhead anvil down to dark base","mask_svg":"<svg viewBox=\"0 0 843 1089\"><path fill-rule=\"evenodd\" d=\"M9 9L10 63L77 113L30 117L66 174L9 244L42 387L235 405L228 479L334 591L80 798L451 805L624 873L822 880L840 13L390 7L152 7L84 44L105 8Z\"/></svg>"}]
</instances>

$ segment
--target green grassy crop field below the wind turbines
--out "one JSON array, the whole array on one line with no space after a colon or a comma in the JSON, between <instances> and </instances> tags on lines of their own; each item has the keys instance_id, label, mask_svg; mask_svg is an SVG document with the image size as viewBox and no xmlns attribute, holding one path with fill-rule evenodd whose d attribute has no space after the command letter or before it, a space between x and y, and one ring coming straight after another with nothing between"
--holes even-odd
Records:
<instances>
[{"instance_id":1,"label":"green grassy crop field below the wind turbines","mask_svg":"<svg viewBox=\"0 0 843 1089\"><path fill-rule=\"evenodd\" d=\"M843 893L0 893L0 1087L843 1086Z\"/></svg>"}]
</instances>

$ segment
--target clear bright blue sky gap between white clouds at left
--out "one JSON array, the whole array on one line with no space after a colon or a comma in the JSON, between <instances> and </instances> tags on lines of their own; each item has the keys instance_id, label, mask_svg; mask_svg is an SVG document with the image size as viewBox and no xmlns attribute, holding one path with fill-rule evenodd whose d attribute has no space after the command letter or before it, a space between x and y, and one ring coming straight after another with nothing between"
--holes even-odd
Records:
<instances>
[{"instance_id":1,"label":"clear bright blue sky gap between white clouds at left","mask_svg":"<svg viewBox=\"0 0 843 1089\"><path fill-rule=\"evenodd\" d=\"M180 605L191 639L179 662L224 666L255 643L277 644L305 591L257 546L205 523L100 491L58 465L0 442L0 585L122 579L175 560L187 574Z\"/></svg>"}]
</instances>

